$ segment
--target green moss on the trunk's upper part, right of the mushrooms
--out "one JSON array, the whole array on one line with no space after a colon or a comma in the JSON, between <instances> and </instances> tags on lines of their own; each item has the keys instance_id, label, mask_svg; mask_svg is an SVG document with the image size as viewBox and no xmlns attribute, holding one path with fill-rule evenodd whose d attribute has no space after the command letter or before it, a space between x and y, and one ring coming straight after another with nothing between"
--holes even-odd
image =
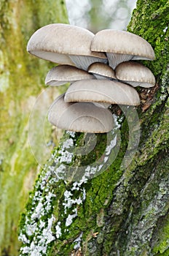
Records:
<instances>
[{"instance_id":1,"label":"green moss on the trunk's upper part, right of the mushrooms","mask_svg":"<svg viewBox=\"0 0 169 256\"><path fill-rule=\"evenodd\" d=\"M141 10L141 15L139 12ZM165 17L165 18L164 18ZM156 78L162 77L168 65L168 1L137 1L137 9L133 12L132 20L127 27L128 31L144 37L154 48L155 60L145 61L144 64L153 70Z\"/></svg>"}]
</instances>

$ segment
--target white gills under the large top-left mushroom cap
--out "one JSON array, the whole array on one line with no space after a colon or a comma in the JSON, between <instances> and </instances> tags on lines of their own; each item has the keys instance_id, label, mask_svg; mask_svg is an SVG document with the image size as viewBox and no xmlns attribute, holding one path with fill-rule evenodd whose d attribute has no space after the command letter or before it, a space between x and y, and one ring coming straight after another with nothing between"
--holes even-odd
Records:
<instances>
[{"instance_id":1,"label":"white gills under the large top-left mushroom cap","mask_svg":"<svg viewBox=\"0 0 169 256\"><path fill-rule=\"evenodd\" d=\"M94 62L102 62L105 64L107 63L107 59L101 59L101 58L97 58L94 56L69 55L69 58L71 59L71 61L74 62L76 67L78 67L79 69L84 69L84 70L87 70L88 67L91 64L93 64Z\"/></svg>"}]
</instances>

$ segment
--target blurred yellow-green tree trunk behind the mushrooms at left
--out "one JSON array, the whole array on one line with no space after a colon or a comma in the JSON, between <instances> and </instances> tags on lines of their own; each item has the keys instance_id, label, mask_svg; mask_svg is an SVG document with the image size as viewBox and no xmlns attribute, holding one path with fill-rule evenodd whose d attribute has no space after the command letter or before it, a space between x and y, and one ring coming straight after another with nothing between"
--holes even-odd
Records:
<instances>
[{"instance_id":1,"label":"blurred yellow-green tree trunk behind the mushrooms at left","mask_svg":"<svg viewBox=\"0 0 169 256\"><path fill-rule=\"evenodd\" d=\"M36 29L53 22L68 22L64 1L0 0L0 255L18 255L18 221L39 169L30 151L28 124L51 64L29 56L26 45ZM38 144L42 131L36 115L40 116L52 100L50 90L30 119L36 124L31 135ZM50 127L47 140L51 138ZM34 154L38 150L34 148Z\"/></svg>"}]
</instances>

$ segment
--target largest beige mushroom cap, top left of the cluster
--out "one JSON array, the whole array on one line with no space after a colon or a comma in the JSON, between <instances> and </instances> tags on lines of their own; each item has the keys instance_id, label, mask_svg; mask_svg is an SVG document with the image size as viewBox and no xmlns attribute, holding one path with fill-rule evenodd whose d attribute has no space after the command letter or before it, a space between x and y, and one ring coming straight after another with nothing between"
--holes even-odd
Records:
<instances>
[{"instance_id":1,"label":"largest beige mushroom cap, top left of the cluster","mask_svg":"<svg viewBox=\"0 0 169 256\"><path fill-rule=\"evenodd\" d=\"M93 37L94 34L87 29L69 24L52 23L34 32L28 41L27 50L34 56L58 64L74 65L68 55L106 59L104 53L92 53L90 50ZM69 62L66 63L68 60Z\"/></svg>"}]
</instances>

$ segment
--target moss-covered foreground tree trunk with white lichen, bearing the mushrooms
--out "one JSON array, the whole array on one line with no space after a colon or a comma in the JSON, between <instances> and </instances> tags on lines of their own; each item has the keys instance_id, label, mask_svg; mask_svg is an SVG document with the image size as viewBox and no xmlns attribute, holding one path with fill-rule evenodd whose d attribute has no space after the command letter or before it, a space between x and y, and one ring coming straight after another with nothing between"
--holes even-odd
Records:
<instances>
[{"instance_id":1,"label":"moss-covered foreground tree trunk with white lichen, bearing the mushrooms","mask_svg":"<svg viewBox=\"0 0 169 256\"><path fill-rule=\"evenodd\" d=\"M20 222L20 255L169 255L169 2L138 0L128 30L155 50L141 106L112 106L108 134L65 132ZM138 119L139 118L139 119Z\"/></svg>"}]
</instances>

